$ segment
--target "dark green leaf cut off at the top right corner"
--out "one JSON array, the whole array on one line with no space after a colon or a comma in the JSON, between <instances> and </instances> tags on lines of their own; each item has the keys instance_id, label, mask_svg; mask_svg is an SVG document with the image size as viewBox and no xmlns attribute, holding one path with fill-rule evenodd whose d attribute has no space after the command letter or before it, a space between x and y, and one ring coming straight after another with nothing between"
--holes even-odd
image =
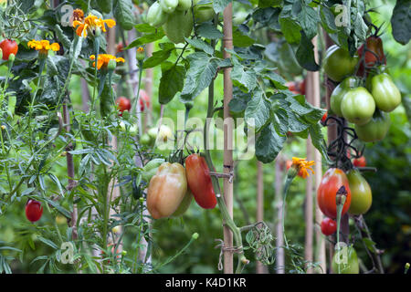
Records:
<instances>
[{"instance_id":1,"label":"dark green leaf cut off at the top right corner","mask_svg":"<svg viewBox=\"0 0 411 292\"><path fill-rule=\"evenodd\" d=\"M411 0L397 0L391 16L394 39L406 45L411 38Z\"/></svg>"}]
</instances>

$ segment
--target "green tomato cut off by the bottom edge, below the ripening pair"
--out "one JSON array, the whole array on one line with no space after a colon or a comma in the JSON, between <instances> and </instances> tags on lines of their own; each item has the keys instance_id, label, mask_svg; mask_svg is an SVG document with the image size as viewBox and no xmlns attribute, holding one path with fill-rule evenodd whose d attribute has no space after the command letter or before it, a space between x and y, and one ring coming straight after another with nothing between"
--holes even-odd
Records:
<instances>
[{"instance_id":1,"label":"green tomato cut off by the bottom edge, below the ripening pair","mask_svg":"<svg viewBox=\"0 0 411 292\"><path fill-rule=\"evenodd\" d=\"M346 257L345 257L346 255ZM340 266L340 269L338 268ZM359 274L360 266L353 246L344 246L332 256L332 273L334 274Z\"/></svg>"}]
</instances>

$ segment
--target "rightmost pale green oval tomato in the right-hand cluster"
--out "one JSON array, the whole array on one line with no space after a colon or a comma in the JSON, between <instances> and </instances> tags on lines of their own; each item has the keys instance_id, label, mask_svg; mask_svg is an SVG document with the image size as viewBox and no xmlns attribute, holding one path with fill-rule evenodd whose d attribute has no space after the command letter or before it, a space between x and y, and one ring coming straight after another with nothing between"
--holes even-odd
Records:
<instances>
[{"instance_id":1,"label":"rightmost pale green oval tomato in the right-hand cluster","mask_svg":"<svg viewBox=\"0 0 411 292\"><path fill-rule=\"evenodd\" d=\"M371 79L371 92L378 109L390 112L401 103L401 93L386 73Z\"/></svg>"}]
</instances>

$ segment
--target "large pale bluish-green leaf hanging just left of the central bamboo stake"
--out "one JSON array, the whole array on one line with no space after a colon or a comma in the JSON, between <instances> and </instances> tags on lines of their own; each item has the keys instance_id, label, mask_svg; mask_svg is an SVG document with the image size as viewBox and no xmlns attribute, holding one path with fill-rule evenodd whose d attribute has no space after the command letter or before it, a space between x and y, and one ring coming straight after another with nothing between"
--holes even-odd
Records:
<instances>
[{"instance_id":1,"label":"large pale bluish-green leaf hanging just left of the central bamboo stake","mask_svg":"<svg viewBox=\"0 0 411 292\"><path fill-rule=\"evenodd\" d=\"M215 78L219 61L216 57L210 57L204 52L196 52L187 57L190 68L184 81L181 99L190 101L195 99L201 91L207 88Z\"/></svg>"}]
</instances>

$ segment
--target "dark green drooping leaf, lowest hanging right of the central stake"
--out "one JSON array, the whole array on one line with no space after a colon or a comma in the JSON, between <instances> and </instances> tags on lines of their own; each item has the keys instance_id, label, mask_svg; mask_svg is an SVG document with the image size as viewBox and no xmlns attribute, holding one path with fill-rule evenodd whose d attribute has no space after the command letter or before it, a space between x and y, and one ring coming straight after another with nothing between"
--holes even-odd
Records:
<instances>
[{"instance_id":1,"label":"dark green drooping leaf, lowest hanging right of the central stake","mask_svg":"<svg viewBox=\"0 0 411 292\"><path fill-rule=\"evenodd\" d=\"M272 123L261 130L256 142L256 156L258 161L269 163L276 159L282 150L286 136L279 136Z\"/></svg>"}]
</instances>

